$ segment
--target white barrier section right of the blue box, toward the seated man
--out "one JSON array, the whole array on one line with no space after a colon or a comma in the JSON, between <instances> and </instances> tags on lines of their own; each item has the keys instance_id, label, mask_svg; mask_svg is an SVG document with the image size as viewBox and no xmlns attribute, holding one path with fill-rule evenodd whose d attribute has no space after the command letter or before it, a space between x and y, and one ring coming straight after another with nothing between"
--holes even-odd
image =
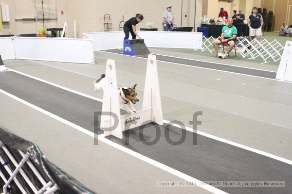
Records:
<instances>
[{"instance_id":1,"label":"white barrier section right of the blue box, toward the seated man","mask_svg":"<svg viewBox=\"0 0 292 194\"><path fill-rule=\"evenodd\" d=\"M138 31L147 47L201 49L202 32Z\"/></svg>"}]
</instances>

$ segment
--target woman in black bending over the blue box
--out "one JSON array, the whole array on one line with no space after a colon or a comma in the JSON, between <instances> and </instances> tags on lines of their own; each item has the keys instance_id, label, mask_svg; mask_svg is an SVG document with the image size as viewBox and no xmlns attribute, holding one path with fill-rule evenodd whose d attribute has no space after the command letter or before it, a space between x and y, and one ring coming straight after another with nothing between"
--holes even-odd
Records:
<instances>
[{"instance_id":1,"label":"woman in black bending over the blue box","mask_svg":"<svg viewBox=\"0 0 292 194\"><path fill-rule=\"evenodd\" d=\"M144 19L142 14L136 14L136 17L130 18L126 23L124 24L124 32L125 32L125 38L129 39L129 33L131 32L132 39L136 39L136 36L141 40L142 37L138 35L136 32L136 25L141 22Z\"/></svg>"}]
</instances>

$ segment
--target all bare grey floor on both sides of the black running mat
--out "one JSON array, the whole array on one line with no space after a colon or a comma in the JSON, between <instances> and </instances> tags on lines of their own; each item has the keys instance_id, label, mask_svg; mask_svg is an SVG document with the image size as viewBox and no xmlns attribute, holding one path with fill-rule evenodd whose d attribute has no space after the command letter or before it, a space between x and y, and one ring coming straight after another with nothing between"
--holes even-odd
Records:
<instances>
[{"instance_id":1,"label":"all bare grey floor on both sides of the black running mat","mask_svg":"<svg viewBox=\"0 0 292 194\"><path fill-rule=\"evenodd\" d=\"M158 49L151 52L217 62L210 57ZM96 65L27 60L4 63L14 70L102 98L102 93L93 92L92 82L105 72L108 58L116 61L118 83L137 83L138 96L142 97L146 59L95 52ZM232 65L236 60L224 63ZM251 62L240 65L277 69ZM193 113L202 111L198 130L292 160L292 83L165 62L158 62L158 74L164 119L179 120L191 127ZM136 109L141 107L141 103L136 105ZM50 161L97 193L208 193L199 187L156 187L157 180L180 178L109 145L93 146L91 137L2 94L0 125L37 143Z\"/></svg>"}]
</instances>

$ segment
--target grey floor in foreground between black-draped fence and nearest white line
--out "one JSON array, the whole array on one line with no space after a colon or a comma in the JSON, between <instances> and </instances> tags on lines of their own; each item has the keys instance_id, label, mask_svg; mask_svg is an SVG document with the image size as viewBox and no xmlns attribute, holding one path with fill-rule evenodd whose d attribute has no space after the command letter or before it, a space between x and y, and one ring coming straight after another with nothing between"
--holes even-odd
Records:
<instances>
[{"instance_id":1,"label":"grey floor in foreground between black-draped fence and nearest white line","mask_svg":"<svg viewBox=\"0 0 292 194\"><path fill-rule=\"evenodd\" d=\"M98 194L209 193L200 187L156 187L159 180L182 179L103 142L94 145L92 137L3 94L0 109L1 126L36 143L51 162Z\"/></svg>"}]
</instances>

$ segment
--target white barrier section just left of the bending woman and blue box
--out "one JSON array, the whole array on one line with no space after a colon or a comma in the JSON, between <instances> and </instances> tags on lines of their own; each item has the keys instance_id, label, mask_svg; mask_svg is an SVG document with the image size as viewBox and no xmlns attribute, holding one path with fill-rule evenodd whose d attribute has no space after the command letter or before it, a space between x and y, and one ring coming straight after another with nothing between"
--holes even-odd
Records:
<instances>
[{"instance_id":1,"label":"white barrier section just left of the bending woman and blue box","mask_svg":"<svg viewBox=\"0 0 292 194\"><path fill-rule=\"evenodd\" d=\"M123 48L125 33L123 31L83 33L83 38L93 40L93 50L120 49Z\"/></svg>"}]
</instances>

